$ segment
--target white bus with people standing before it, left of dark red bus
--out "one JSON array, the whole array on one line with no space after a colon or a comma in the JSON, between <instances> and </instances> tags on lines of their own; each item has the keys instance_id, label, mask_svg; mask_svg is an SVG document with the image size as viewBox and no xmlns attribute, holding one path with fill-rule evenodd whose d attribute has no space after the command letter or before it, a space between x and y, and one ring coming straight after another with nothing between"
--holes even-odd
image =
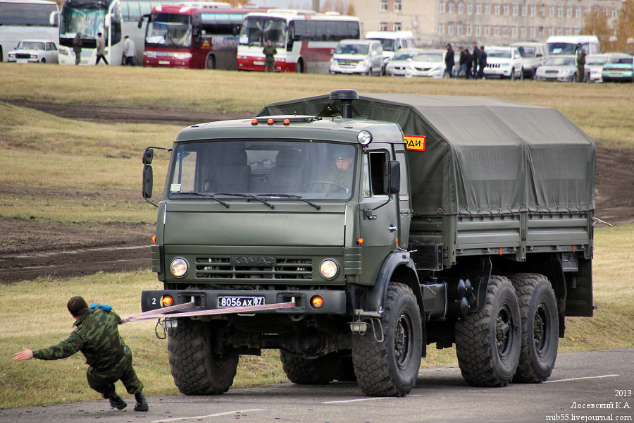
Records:
<instances>
[{"instance_id":1,"label":"white bus with people standing before it, left of dark red bus","mask_svg":"<svg viewBox=\"0 0 634 423\"><path fill-rule=\"evenodd\" d=\"M97 61L97 34L106 40L106 59L120 65L123 58L123 37L135 42L137 59L143 63L145 27L139 20L149 15L154 6L182 3L182 0L66 0L60 12L59 63L75 64L73 38L82 37L82 65Z\"/></svg>"}]
</instances>

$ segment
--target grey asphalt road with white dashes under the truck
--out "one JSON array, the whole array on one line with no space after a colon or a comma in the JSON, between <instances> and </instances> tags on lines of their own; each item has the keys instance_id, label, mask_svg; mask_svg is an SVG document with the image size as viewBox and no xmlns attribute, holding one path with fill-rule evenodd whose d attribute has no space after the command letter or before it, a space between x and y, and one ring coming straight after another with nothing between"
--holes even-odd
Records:
<instances>
[{"instance_id":1,"label":"grey asphalt road with white dashes under the truck","mask_svg":"<svg viewBox=\"0 0 634 423\"><path fill-rule=\"evenodd\" d=\"M129 396L128 396L129 397ZM223 396L149 398L149 412L106 400L0 410L0 422L588 422L633 421L634 348L557 357L543 384L467 386L457 367L423 369L405 398L363 396L356 384L290 382L230 389Z\"/></svg>"}]
</instances>

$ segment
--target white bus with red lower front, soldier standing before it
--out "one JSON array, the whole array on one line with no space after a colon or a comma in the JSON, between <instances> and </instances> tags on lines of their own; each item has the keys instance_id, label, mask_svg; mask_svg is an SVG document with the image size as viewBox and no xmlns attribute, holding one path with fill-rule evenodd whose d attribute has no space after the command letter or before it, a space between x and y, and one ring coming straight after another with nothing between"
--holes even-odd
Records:
<instances>
[{"instance_id":1,"label":"white bus with red lower front, soldier standing before it","mask_svg":"<svg viewBox=\"0 0 634 423\"><path fill-rule=\"evenodd\" d=\"M271 9L249 13L240 31L240 71L264 71L262 49L273 42L275 71L328 73L331 49L342 39L359 39L359 18L313 11Z\"/></svg>"}]
</instances>

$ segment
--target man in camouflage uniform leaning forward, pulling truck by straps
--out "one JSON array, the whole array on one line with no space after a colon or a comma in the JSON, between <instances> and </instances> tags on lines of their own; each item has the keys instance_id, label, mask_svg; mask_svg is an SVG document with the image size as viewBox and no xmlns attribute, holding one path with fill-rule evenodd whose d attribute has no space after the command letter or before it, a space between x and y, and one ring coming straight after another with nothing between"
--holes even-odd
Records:
<instances>
[{"instance_id":1,"label":"man in camouflage uniform leaning forward, pulling truck by straps","mask_svg":"<svg viewBox=\"0 0 634 423\"><path fill-rule=\"evenodd\" d=\"M86 371L89 386L108 398L112 407L123 410L128 406L115 391L114 384L120 380L137 400L135 411L149 410L143 395L144 385L132 367L132 350L123 342L117 327L121 323L119 315L110 306L91 305L89 308L81 297L70 298L67 307L76 321L75 330L66 340L42 350L23 348L13 354L13 360L59 360L81 351L89 365Z\"/></svg>"}]
</instances>

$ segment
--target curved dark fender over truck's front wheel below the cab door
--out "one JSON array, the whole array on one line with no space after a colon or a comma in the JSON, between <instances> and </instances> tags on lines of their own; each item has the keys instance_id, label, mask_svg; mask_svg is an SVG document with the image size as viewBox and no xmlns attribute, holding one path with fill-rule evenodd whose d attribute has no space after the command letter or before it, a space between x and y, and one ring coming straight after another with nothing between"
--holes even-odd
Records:
<instances>
[{"instance_id":1,"label":"curved dark fender over truck's front wheel below the cab door","mask_svg":"<svg viewBox=\"0 0 634 423\"><path fill-rule=\"evenodd\" d=\"M366 311L378 312L383 310L385 295L387 295L387 286L390 285L392 275L399 266L406 266L411 269L411 271L406 271L406 274L404 274L404 272L397 271L397 273L401 274L400 276L406 276L400 277L399 282L405 283L409 286L409 288L411 288L412 292L414 292L416 302L418 302L418 307L421 309L422 321L425 321L423 293L421 292L421 283L418 280L418 274L416 274L416 264L414 264L414 260L411 259L409 252L406 251L394 251L385 257L385 260L383 260L383 264L381 264L381 268L379 269L374 286L368 289Z\"/></svg>"}]
</instances>

